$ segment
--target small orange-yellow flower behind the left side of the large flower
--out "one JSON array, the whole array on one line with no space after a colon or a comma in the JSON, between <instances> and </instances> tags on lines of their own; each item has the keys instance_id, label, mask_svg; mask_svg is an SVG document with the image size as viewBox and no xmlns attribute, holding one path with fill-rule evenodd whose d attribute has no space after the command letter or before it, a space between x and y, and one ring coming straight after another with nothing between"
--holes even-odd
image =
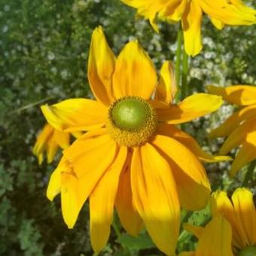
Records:
<instances>
[{"instance_id":1,"label":"small orange-yellow flower behind the left side of the large flower","mask_svg":"<svg viewBox=\"0 0 256 256\"><path fill-rule=\"evenodd\" d=\"M44 152L47 154L47 163L51 163L59 147L69 147L69 133L56 130L48 123L45 124L33 148L33 154L38 157L38 163L43 162Z\"/></svg>"}]
</instances>

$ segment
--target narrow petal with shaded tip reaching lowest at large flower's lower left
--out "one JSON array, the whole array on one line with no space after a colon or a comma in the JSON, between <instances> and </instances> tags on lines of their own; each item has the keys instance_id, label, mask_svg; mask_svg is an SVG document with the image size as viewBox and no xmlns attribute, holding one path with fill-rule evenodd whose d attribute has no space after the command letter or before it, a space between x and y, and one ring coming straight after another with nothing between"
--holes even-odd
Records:
<instances>
[{"instance_id":1,"label":"narrow petal with shaded tip reaching lowest at large flower's lower left","mask_svg":"<svg viewBox=\"0 0 256 256\"><path fill-rule=\"evenodd\" d=\"M119 175L126 155L127 148L120 147L114 162L90 194L90 241L96 252L102 250L108 241Z\"/></svg>"}]
</instances>

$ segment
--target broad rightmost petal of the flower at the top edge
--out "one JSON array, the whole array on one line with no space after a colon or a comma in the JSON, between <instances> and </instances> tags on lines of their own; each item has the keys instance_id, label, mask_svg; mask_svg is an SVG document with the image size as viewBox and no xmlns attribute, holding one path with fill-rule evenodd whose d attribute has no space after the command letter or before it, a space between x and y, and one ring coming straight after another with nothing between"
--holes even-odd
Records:
<instances>
[{"instance_id":1,"label":"broad rightmost petal of the flower at the top edge","mask_svg":"<svg viewBox=\"0 0 256 256\"><path fill-rule=\"evenodd\" d=\"M254 10L246 8L245 5L234 5L234 1L217 0L198 0L203 11L210 17L214 17L227 25L252 25L255 23ZM248 11L248 10L251 11Z\"/></svg>"}]
</instances>

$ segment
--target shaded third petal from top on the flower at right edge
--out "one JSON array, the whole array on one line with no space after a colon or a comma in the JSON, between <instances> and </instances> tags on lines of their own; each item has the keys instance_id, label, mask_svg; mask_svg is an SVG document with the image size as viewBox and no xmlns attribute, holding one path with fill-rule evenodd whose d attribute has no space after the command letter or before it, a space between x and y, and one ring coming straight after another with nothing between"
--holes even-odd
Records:
<instances>
[{"instance_id":1,"label":"shaded third petal from top on the flower at right edge","mask_svg":"<svg viewBox=\"0 0 256 256\"><path fill-rule=\"evenodd\" d=\"M251 119L245 120L244 123L237 126L230 136L227 137L226 141L221 146L220 154L227 154L231 149L241 145L245 142L245 138L248 133L251 133L254 130L256 130L256 123L254 124L254 121Z\"/></svg>"}]
</instances>

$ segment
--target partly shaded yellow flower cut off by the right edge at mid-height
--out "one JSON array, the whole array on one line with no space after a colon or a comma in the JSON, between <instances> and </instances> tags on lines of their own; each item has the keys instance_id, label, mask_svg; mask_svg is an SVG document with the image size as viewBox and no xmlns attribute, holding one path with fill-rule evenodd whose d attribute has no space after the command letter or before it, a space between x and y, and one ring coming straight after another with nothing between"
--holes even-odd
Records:
<instances>
[{"instance_id":1,"label":"partly shaded yellow flower cut off by the right edge at mid-height","mask_svg":"<svg viewBox=\"0 0 256 256\"><path fill-rule=\"evenodd\" d=\"M208 89L210 93L222 96L227 102L243 106L209 134L210 138L227 136L221 147L221 154L227 154L233 148L242 145L230 169L230 175L233 176L242 166L256 159L256 87L209 86Z\"/></svg>"}]
</instances>

